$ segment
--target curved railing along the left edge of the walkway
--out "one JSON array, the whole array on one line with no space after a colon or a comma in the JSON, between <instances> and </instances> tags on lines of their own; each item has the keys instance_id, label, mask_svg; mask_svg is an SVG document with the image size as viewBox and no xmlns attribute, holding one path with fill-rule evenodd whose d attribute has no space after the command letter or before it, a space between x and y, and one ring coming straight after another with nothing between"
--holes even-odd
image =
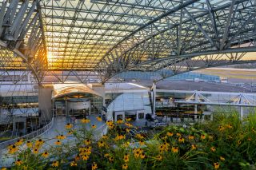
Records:
<instances>
[{"instance_id":1,"label":"curved railing along the left edge of the walkway","mask_svg":"<svg viewBox=\"0 0 256 170\"><path fill-rule=\"evenodd\" d=\"M16 137L14 139L11 140L6 140L4 142L0 142L0 149L4 149L6 148L9 144L14 144L17 140L21 140L21 139L33 139L34 137L37 137L39 135L44 134L45 132L47 132L48 130L50 130L50 128L52 128L54 125L54 117L51 119L50 123L45 125L44 127L34 131L34 132L30 132L29 134L26 134L24 136L19 136Z\"/></svg>"}]
</instances>

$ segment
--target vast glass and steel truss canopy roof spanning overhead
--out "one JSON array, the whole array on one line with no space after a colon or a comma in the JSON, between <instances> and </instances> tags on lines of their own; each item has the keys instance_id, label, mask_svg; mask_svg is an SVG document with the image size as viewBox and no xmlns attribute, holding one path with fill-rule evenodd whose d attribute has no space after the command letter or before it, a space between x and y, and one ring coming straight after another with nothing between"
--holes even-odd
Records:
<instances>
[{"instance_id":1,"label":"vast glass and steel truss canopy roof spanning overhead","mask_svg":"<svg viewBox=\"0 0 256 170\"><path fill-rule=\"evenodd\" d=\"M97 73L105 82L128 69L167 68L179 73L254 61L254 56L244 56L256 51L255 3L0 0L0 45L15 53L12 57L2 55L0 66L32 69L38 81L47 73L58 77L57 71L65 81L65 71L67 77L72 74L81 82ZM86 76L74 73L77 71Z\"/></svg>"}]
</instances>

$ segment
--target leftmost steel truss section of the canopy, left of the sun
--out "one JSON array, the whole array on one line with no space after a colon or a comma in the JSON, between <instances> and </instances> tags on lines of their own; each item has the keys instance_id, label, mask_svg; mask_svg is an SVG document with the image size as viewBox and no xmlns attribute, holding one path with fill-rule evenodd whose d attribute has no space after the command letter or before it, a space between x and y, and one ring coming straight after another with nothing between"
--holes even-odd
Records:
<instances>
[{"instance_id":1,"label":"leftmost steel truss section of the canopy, left of the sun","mask_svg":"<svg viewBox=\"0 0 256 170\"><path fill-rule=\"evenodd\" d=\"M40 83L47 58L38 0L4 0L0 6L1 73L29 69Z\"/></svg>"}]
</instances>

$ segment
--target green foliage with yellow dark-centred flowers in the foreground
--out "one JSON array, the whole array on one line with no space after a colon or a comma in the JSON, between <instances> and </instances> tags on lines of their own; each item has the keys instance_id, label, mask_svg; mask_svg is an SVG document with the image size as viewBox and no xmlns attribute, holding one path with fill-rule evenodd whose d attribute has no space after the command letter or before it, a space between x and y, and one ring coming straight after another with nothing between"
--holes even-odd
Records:
<instances>
[{"instance_id":1,"label":"green foliage with yellow dark-centred flowers in the foreground","mask_svg":"<svg viewBox=\"0 0 256 170\"><path fill-rule=\"evenodd\" d=\"M238 113L222 111L214 114L214 121L186 128L170 125L154 136L131 137L127 131L134 127L128 122L109 121L107 135L97 138L94 129L88 130L86 124L73 129L70 142L50 147L46 158L42 152L35 154L30 148L20 148L14 157L22 164L13 168L92 169L97 164L98 169L109 170L255 169L254 113L241 121ZM123 127L126 130L121 131ZM53 166L54 161L58 166Z\"/></svg>"}]
</instances>

